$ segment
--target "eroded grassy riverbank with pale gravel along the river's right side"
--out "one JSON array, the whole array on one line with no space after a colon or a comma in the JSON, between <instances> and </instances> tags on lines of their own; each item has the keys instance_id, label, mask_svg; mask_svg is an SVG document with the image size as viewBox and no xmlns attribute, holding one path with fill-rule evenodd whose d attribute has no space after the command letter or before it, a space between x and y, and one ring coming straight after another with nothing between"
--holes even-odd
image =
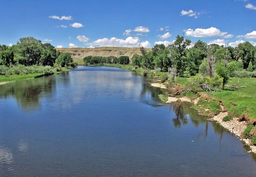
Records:
<instances>
[{"instance_id":1,"label":"eroded grassy riverbank with pale gravel along the river's right side","mask_svg":"<svg viewBox=\"0 0 256 177\"><path fill-rule=\"evenodd\" d=\"M178 77L177 83L173 83L173 85L171 85L172 83L169 81L163 80L166 73L144 70L143 68L134 68L132 65L98 64L94 66L117 67L135 71L143 76L148 76L150 79L153 79L153 82L158 82L151 83L150 85L152 87L159 87L167 90L183 89L187 81L186 77ZM210 116L210 121L218 122L232 134L236 135L241 141L250 146L253 153L256 153L256 146L252 145L250 139L244 138L245 135L243 135L248 125L256 124L256 109L254 107L256 100L256 90L254 89L256 87L256 79L233 77L230 78L229 84L244 87L226 88L221 92L214 92L213 94L205 94L203 92L193 94L191 92L187 92L177 97L169 96L166 103L171 103L173 101L191 102L194 104L194 107L191 108L197 110L198 114ZM198 105L198 100L204 105ZM202 102L202 100L204 102ZM226 116L231 117L231 119L223 121L223 118Z\"/></svg>"}]
</instances>

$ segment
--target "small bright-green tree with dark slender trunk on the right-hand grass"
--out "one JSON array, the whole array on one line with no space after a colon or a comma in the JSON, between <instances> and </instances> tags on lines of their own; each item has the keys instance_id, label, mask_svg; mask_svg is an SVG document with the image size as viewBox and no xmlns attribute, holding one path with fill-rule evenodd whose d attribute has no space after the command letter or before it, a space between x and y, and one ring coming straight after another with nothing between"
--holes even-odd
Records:
<instances>
[{"instance_id":1,"label":"small bright-green tree with dark slender trunk on the right-hand grass","mask_svg":"<svg viewBox=\"0 0 256 177\"><path fill-rule=\"evenodd\" d=\"M228 74L234 72L236 69L236 62L231 61L230 63L226 63L224 60L219 61L216 65L216 73L223 77L222 89L224 90L225 83L228 81Z\"/></svg>"}]
</instances>

